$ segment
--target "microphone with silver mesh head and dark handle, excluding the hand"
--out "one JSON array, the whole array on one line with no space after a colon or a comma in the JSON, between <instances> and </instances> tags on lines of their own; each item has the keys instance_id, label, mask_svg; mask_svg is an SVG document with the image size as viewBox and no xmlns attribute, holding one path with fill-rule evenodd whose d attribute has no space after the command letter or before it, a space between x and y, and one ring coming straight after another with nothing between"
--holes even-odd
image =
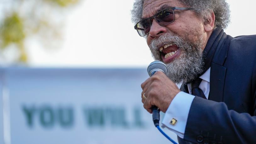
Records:
<instances>
[{"instance_id":1,"label":"microphone with silver mesh head and dark handle, excluding the hand","mask_svg":"<svg viewBox=\"0 0 256 144\"><path fill-rule=\"evenodd\" d=\"M152 75L154 75L157 71L162 71L165 75L167 74L166 65L163 62L159 61L159 60L153 61L147 67L147 73L150 77ZM154 122L154 125L157 127L157 126L159 126L159 120L160 120L159 112L160 112L160 110L156 106L152 106L151 109L152 109L153 122Z\"/></svg>"}]
</instances>

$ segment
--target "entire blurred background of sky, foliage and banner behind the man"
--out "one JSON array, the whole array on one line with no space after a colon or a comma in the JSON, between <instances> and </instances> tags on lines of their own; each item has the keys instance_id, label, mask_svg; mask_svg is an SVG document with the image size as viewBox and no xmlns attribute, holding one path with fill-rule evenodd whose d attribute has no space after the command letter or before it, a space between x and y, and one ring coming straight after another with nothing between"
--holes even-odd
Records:
<instances>
[{"instance_id":1,"label":"entire blurred background of sky, foliage and banner behind the man","mask_svg":"<svg viewBox=\"0 0 256 144\"><path fill-rule=\"evenodd\" d=\"M0 0L0 144L169 143L140 102L133 1ZM256 34L256 2L227 2L225 32Z\"/></svg>"}]
</instances>

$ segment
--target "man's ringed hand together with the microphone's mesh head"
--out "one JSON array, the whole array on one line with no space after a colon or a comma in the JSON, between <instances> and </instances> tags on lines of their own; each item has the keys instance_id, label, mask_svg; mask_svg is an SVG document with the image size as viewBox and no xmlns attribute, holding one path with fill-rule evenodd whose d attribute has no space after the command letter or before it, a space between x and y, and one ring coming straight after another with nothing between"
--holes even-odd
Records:
<instances>
[{"instance_id":1,"label":"man's ringed hand together with the microphone's mesh head","mask_svg":"<svg viewBox=\"0 0 256 144\"><path fill-rule=\"evenodd\" d=\"M150 78L141 84L142 103L144 108L152 113L152 107L158 107L162 112L166 112L171 101L180 92L174 82L167 76L167 68L161 61L154 61L148 66ZM146 97L143 98L143 95Z\"/></svg>"}]
</instances>

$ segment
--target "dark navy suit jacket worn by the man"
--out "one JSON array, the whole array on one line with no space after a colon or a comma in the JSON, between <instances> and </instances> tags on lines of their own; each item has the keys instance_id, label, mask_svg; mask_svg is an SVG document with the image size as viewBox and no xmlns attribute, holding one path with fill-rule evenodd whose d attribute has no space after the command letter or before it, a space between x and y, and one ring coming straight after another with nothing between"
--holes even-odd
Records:
<instances>
[{"instance_id":1,"label":"dark navy suit jacket worn by the man","mask_svg":"<svg viewBox=\"0 0 256 144\"><path fill-rule=\"evenodd\" d=\"M256 143L256 35L223 34L214 53L209 99L195 97L179 143Z\"/></svg>"}]
</instances>

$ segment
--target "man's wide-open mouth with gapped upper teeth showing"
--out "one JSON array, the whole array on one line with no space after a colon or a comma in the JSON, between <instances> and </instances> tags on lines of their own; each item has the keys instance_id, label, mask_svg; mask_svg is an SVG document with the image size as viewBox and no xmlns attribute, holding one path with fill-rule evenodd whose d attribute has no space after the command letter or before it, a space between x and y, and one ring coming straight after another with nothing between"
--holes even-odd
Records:
<instances>
[{"instance_id":1,"label":"man's wide-open mouth with gapped upper teeth showing","mask_svg":"<svg viewBox=\"0 0 256 144\"><path fill-rule=\"evenodd\" d=\"M181 55L181 50L174 44L166 44L159 48L160 56L165 64L172 62L175 58Z\"/></svg>"}]
</instances>

